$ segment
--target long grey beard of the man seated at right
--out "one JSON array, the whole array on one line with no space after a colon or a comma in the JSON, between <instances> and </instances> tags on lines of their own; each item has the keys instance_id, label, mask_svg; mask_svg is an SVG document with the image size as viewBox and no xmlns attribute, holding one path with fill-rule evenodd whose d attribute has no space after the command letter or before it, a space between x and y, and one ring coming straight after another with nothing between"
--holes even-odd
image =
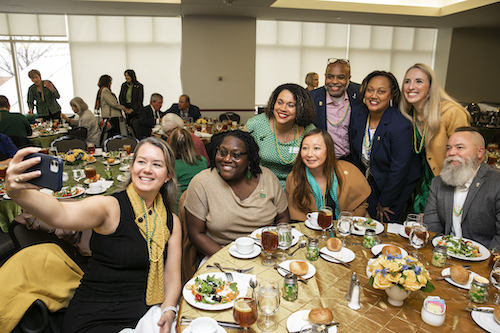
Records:
<instances>
[{"instance_id":1,"label":"long grey beard of the man seated at right","mask_svg":"<svg viewBox=\"0 0 500 333\"><path fill-rule=\"evenodd\" d=\"M451 162L459 161L460 165L454 165ZM457 187L464 186L476 172L478 159L474 157L462 158L459 156L450 156L444 160L441 179L447 185Z\"/></svg>"}]
</instances>

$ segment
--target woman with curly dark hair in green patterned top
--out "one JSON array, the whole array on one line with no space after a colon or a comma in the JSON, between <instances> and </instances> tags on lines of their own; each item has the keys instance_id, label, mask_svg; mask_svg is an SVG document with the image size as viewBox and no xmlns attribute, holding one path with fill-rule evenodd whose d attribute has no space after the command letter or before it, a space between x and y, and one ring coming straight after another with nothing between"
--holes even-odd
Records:
<instances>
[{"instance_id":1,"label":"woman with curly dark hair in green patterned top","mask_svg":"<svg viewBox=\"0 0 500 333\"><path fill-rule=\"evenodd\" d=\"M286 83L276 88L265 113L248 120L246 130L259 145L260 164L270 169L285 188L305 133L314 129L315 109L301 86Z\"/></svg>"}]
</instances>

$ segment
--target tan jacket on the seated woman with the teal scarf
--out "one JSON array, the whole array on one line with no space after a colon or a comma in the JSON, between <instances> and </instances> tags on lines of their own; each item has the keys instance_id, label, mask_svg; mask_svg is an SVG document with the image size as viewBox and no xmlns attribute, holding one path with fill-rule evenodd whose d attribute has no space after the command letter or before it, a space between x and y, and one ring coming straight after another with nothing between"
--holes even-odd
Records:
<instances>
[{"instance_id":1,"label":"tan jacket on the seated woman with the teal scarf","mask_svg":"<svg viewBox=\"0 0 500 333\"><path fill-rule=\"evenodd\" d=\"M354 214L354 216L365 216L366 209L368 208L367 199L372 192L370 184L368 184L365 176L354 164L346 161L338 161L338 163L340 169L342 170L342 174L337 175L337 178L342 177L342 187L337 188L339 210L350 211ZM301 211L297 205L294 204L292 196L293 191L297 187L294 175L295 173L292 171L286 179L288 211L292 220L305 221L307 213L315 212L318 209L316 208L312 192L309 192L311 204L306 211Z\"/></svg>"}]
</instances>

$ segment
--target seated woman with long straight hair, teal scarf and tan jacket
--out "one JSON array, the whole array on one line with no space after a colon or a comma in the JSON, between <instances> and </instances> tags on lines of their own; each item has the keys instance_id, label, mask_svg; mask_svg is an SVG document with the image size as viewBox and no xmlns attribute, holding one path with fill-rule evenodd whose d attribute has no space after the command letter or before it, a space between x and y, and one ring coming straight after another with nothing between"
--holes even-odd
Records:
<instances>
[{"instance_id":1,"label":"seated woman with long straight hair, teal scarf and tan jacket","mask_svg":"<svg viewBox=\"0 0 500 333\"><path fill-rule=\"evenodd\" d=\"M328 158L327 158L328 157ZM292 172L286 179L288 210L292 220L304 221L306 214L323 206L365 216L371 188L359 169L335 158L333 140L323 129L304 135Z\"/></svg>"}]
</instances>

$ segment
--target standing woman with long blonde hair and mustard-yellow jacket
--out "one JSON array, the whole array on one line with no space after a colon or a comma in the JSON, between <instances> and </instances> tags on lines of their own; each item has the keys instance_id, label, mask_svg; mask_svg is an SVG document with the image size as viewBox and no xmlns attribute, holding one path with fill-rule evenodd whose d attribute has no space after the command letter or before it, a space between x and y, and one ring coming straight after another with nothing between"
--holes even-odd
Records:
<instances>
[{"instance_id":1,"label":"standing woman with long blonde hair and mustard-yellow jacket","mask_svg":"<svg viewBox=\"0 0 500 333\"><path fill-rule=\"evenodd\" d=\"M436 73L425 64L406 71L402 91L400 109L413 124L413 149L423 164L413 211L423 213L431 181L443 168L448 138L456 128L470 126L470 115L439 86Z\"/></svg>"}]
</instances>

